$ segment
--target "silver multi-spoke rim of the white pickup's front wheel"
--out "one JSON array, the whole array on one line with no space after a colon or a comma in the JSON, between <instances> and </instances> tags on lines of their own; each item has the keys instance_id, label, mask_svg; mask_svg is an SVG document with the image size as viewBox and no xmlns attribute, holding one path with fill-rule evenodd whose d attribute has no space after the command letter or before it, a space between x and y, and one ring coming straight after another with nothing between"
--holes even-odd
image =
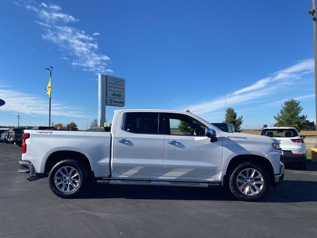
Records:
<instances>
[{"instance_id":1,"label":"silver multi-spoke rim of the white pickup's front wheel","mask_svg":"<svg viewBox=\"0 0 317 238\"><path fill-rule=\"evenodd\" d=\"M241 171L236 181L239 190L247 196L257 195L263 189L263 175L256 169L248 168Z\"/></svg>"}]
</instances>

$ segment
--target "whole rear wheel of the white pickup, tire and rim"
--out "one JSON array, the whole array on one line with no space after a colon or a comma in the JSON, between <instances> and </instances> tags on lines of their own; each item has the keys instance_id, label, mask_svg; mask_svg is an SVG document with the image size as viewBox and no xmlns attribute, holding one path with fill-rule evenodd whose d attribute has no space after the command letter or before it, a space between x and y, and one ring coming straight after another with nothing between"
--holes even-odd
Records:
<instances>
[{"instance_id":1,"label":"whole rear wheel of the white pickup, tire and rim","mask_svg":"<svg viewBox=\"0 0 317 238\"><path fill-rule=\"evenodd\" d=\"M71 198L83 193L87 187L88 171L76 160L58 162L49 174L53 193L62 198Z\"/></svg>"}]
</instances>

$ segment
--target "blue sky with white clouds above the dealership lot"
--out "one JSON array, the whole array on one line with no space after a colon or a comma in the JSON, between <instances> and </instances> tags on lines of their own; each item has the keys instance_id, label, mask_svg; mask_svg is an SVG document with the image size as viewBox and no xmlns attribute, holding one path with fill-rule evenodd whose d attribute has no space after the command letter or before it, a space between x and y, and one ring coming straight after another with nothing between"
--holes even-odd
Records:
<instances>
[{"instance_id":1,"label":"blue sky with white clouds above the dealership lot","mask_svg":"<svg viewBox=\"0 0 317 238\"><path fill-rule=\"evenodd\" d=\"M0 1L0 125L80 129L98 116L98 73L126 79L125 109L190 109L243 128L273 124L283 101L315 121L311 0ZM118 107L106 107L112 119Z\"/></svg>"}]
</instances>

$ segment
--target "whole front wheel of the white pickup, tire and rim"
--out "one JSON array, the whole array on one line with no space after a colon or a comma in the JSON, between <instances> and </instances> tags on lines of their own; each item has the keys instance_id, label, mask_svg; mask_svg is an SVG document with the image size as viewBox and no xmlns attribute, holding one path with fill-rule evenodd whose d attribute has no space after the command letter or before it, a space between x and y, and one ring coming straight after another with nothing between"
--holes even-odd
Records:
<instances>
[{"instance_id":1,"label":"whole front wheel of the white pickup, tire and rim","mask_svg":"<svg viewBox=\"0 0 317 238\"><path fill-rule=\"evenodd\" d=\"M252 169L252 170L256 170L256 175L261 175L261 180L257 180L256 178L252 178L252 177L247 177L243 182L241 181L242 177L239 177L240 179L238 180L238 176L239 174L244 174L244 173L250 173L251 170L247 170L247 169ZM252 172L252 171L251 171ZM251 176L251 175L249 175ZM257 177L257 176L256 176ZM250 183L248 183L250 182ZM262 183L262 186L260 184L260 186L258 186L255 183ZM247 194L243 193L242 191L240 191L239 187L238 187L238 183L239 185L241 184L241 189L245 188L244 191L246 191ZM244 183L246 183L247 185L243 185ZM247 188L249 185L251 185L249 188ZM243 201L256 201L256 200L260 200L261 198L263 198L270 187L270 179L268 177L268 174L264 168L264 166L260 163L256 163L256 162L243 162L241 164L238 164L237 167L233 170L233 172L231 173L230 177L229 177L229 189L231 191L231 193L238 198L239 200L243 200ZM257 191L255 189L260 189L260 191ZM251 190L250 190L251 189ZM248 194L251 193L251 194Z\"/></svg>"}]
</instances>

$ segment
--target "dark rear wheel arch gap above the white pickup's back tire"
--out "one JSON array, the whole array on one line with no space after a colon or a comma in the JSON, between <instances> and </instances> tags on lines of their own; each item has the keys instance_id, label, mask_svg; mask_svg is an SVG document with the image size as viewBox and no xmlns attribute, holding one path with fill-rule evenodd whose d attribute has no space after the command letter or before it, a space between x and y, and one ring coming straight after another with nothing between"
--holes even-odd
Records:
<instances>
[{"instance_id":1,"label":"dark rear wheel arch gap above the white pickup's back tire","mask_svg":"<svg viewBox=\"0 0 317 238\"><path fill-rule=\"evenodd\" d=\"M44 173L45 174L50 173L54 165L56 165L60 161L67 160L67 159L72 159L72 160L76 160L78 162L84 163L85 166L87 166L88 168L88 172L92 173L91 165L87 156L84 155L83 153L80 153L77 151L71 151L71 150L60 150L50 154L50 156L48 157L45 163Z\"/></svg>"}]
</instances>

